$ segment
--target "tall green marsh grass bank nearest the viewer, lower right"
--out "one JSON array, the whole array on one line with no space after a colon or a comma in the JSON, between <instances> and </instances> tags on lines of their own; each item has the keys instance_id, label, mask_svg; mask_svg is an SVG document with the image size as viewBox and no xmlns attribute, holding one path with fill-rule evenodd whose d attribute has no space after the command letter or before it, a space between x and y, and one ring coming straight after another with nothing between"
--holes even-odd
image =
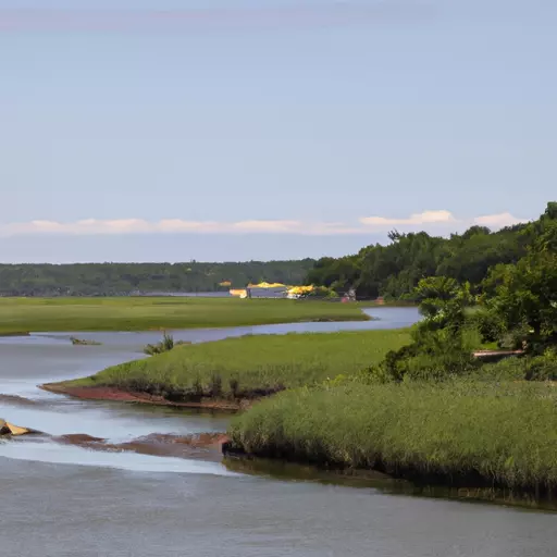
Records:
<instances>
[{"instance_id":1,"label":"tall green marsh grass bank nearest the viewer, lower right","mask_svg":"<svg viewBox=\"0 0 557 557\"><path fill-rule=\"evenodd\" d=\"M548 384L352 384L282 393L234 419L233 446L453 485L555 490Z\"/></svg>"}]
</instances>

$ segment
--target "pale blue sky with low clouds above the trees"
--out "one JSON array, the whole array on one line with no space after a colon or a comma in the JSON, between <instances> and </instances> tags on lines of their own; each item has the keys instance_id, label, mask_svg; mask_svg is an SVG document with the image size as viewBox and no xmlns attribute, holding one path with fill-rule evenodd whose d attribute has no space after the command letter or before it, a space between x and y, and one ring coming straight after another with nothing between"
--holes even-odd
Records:
<instances>
[{"instance_id":1,"label":"pale blue sky with low clouds above the trees","mask_svg":"<svg viewBox=\"0 0 557 557\"><path fill-rule=\"evenodd\" d=\"M0 262L341 256L557 199L554 0L0 0Z\"/></svg>"}]
</instances>

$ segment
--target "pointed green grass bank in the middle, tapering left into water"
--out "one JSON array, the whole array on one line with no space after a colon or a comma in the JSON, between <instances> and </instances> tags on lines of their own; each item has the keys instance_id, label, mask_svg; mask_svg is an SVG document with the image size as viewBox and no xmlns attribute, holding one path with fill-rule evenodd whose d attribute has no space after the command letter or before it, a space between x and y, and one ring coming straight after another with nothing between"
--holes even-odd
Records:
<instances>
[{"instance_id":1,"label":"pointed green grass bank in the middle, tapering left into water","mask_svg":"<svg viewBox=\"0 0 557 557\"><path fill-rule=\"evenodd\" d=\"M244 336L178 346L62 385L110 386L173 400L252 398L355 374L408 342L400 330Z\"/></svg>"}]
</instances>

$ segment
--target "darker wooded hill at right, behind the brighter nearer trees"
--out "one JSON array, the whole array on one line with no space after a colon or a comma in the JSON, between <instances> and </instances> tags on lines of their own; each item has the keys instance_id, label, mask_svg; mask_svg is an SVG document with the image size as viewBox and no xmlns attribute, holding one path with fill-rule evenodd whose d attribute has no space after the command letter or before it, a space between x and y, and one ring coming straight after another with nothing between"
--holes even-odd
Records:
<instances>
[{"instance_id":1,"label":"darker wooded hill at right, behind the brighter nearer trees","mask_svg":"<svg viewBox=\"0 0 557 557\"><path fill-rule=\"evenodd\" d=\"M515 265L532 250L540 234L557 222L557 202L549 202L536 221L492 232L472 226L448 238L426 232L389 233L391 243L362 248L341 258L321 258L306 276L315 284L336 292L355 288L358 296L412 299L422 278L444 276L459 284L468 283L472 293L492 292L502 281L506 265ZM545 231L545 232L544 232ZM548 250L554 239L547 239Z\"/></svg>"}]
</instances>

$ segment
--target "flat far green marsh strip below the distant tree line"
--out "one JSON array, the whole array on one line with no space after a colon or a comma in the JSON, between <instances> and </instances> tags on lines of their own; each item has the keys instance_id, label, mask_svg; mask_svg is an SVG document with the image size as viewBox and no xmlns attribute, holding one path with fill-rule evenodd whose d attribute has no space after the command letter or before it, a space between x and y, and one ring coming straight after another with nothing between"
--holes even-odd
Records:
<instances>
[{"instance_id":1,"label":"flat far green marsh strip below the distant tree line","mask_svg":"<svg viewBox=\"0 0 557 557\"><path fill-rule=\"evenodd\" d=\"M364 319L367 317L356 304L325 301L180 297L0 298L0 334L147 331Z\"/></svg>"}]
</instances>

